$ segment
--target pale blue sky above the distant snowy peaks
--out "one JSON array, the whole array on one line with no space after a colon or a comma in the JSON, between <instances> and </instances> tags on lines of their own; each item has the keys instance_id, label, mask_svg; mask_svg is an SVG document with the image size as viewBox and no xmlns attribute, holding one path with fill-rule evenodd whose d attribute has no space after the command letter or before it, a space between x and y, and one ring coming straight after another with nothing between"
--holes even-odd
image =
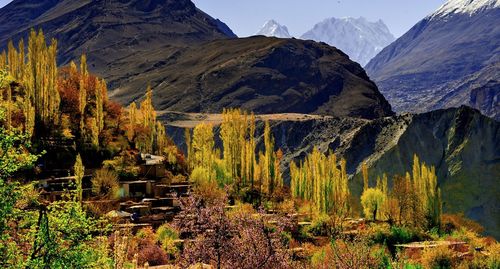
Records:
<instances>
[{"instance_id":1,"label":"pale blue sky above the distant snowy peaks","mask_svg":"<svg viewBox=\"0 0 500 269\"><path fill-rule=\"evenodd\" d=\"M0 6L10 0L0 0ZM212 17L219 18L238 36L255 34L269 19L300 36L329 17L382 19L399 37L415 23L441 6L445 0L194 0Z\"/></svg>"}]
</instances>

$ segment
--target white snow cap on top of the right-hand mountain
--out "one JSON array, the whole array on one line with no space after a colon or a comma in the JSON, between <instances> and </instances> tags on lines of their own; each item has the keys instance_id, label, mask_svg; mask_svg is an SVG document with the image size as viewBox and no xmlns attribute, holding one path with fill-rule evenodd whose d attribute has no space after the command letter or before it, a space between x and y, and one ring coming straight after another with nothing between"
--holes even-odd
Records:
<instances>
[{"instance_id":1,"label":"white snow cap on top of the right-hand mountain","mask_svg":"<svg viewBox=\"0 0 500 269\"><path fill-rule=\"evenodd\" d=\"M449 14L475 14L485 9L500 7L500 0L448 0L431 17L444 17Z\"/></svg>"}]
</instances>

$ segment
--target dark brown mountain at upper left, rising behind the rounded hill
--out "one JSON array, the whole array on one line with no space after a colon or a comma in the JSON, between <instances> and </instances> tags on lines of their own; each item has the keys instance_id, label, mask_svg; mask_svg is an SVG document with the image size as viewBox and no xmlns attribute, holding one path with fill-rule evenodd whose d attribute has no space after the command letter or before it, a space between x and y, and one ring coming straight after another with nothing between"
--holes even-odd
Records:
<instances>
[{"instance_id":1,"label":"dark brown mountain at upper left, rising behind the rounded hill","mask_svg":"<svg viewBox=\"0 0 500 269\"><path fill-rule=\"evenodd\" d=\"M0 44L43 29L58 39L61 63L85 52L104 74L107 64L138 51L236 37L189 0L15 0L0 10L0 22Z\"/></svg>"}]
</instances>

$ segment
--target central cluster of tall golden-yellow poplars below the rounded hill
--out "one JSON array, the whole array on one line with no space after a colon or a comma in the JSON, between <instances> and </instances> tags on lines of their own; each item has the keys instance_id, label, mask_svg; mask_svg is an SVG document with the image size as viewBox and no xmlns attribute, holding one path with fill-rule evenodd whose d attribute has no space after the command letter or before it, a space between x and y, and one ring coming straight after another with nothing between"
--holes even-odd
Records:
<instances>
[{"instance_id":1,"label":"central cluster of tall golden-yellow poplars below the rounded hill","mask_svg":"<svg viewBox=\"0 0 500 269\"><path fill-rule=\"evenodd\" d=\"M185 131L188 167L196 182L216 180L220 187L234 185L236 192L249 188L269 197L279 194L283 187L279 168L283 153L274 150L269 122L264 123L264 151L256 158L255 116L238 109L227 109L222 117L222 149L215 148L210 124L197 125L192 134Z\"/></svg>"}]
</instances>

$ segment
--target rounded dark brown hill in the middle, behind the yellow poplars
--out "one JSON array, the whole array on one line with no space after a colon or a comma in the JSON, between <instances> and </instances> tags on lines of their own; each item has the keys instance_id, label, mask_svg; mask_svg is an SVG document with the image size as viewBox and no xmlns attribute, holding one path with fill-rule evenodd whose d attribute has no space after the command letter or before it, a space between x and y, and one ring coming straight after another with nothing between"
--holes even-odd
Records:
<instances>
[{"instance_id":1,"label":"rounded dark brown hill in the middle, behind the yellow poplars","mask_svg":"<svg viewBox=\"0 0 500 269\"><path fill-rule=\"evenodd\" d=\"M130 64L147 57L158 58L138 67ZM313 41L221 39L171 55L138 53L113 64L128 70L126 81L110 95L121 103L141 98L143 91L137 89L148 81L156 107L166 110L221 112L241 107L255 113L369 119L393 114L361 66L340 50Z\"/></svg>"}]
</instances>

